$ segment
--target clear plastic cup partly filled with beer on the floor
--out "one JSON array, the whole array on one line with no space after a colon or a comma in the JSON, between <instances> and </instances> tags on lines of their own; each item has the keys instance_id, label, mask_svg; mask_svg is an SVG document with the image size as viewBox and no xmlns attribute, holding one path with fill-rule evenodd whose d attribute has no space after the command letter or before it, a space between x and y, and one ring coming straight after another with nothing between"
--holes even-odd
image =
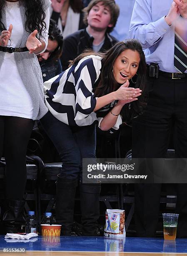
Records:
<instances>
[{"instance_id":1,"label":"clear plastic cup partly filled with beer on the floor","mask_svg":"<svg viewBox=\"0 0 187 256\"><path fill-rule=\"evenodd\" d=\"M163 227L164 227L164 239L175 240L177 233L177 221L178 214L175 213L162 213Z\"/></svg>"}]
</instances>

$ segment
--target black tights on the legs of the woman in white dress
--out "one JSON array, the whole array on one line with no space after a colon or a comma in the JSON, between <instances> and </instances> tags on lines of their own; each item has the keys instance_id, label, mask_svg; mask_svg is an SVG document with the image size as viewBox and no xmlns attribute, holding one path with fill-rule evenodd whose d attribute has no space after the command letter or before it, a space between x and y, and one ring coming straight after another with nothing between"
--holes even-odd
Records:
<instances>
[{"instance_id":1,"label":"black tights on the legs of the woman in white dress","mask_svg":"<svg viewBox=\"0 0 187 256\"><path fill-rule=\"evenodd\" d=\"M0 116L0 159L4 156L6 161L6 199L23 199L27 181L25 156L33 125L32 119Z\"/></svg>"}]
</instances>

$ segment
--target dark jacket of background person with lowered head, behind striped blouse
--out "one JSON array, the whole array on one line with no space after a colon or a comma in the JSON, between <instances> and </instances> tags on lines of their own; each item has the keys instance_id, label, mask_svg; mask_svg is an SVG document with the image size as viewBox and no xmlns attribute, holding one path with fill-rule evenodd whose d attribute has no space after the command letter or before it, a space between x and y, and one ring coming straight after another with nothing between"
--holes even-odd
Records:
<instances>
[{"instance_id":1,"label":"dark jacket of background person with lowered head, behind striped blouse","mask_svg":"<svg viewBox=\"0 0 187 256\"><path fill-rule=\"evenodd\" d=\"M39 62L39 64L42 70L43 82L62 73L62 65L60 59L53 61L49 58L47 60Z\"/></svg>"}]
</instances>

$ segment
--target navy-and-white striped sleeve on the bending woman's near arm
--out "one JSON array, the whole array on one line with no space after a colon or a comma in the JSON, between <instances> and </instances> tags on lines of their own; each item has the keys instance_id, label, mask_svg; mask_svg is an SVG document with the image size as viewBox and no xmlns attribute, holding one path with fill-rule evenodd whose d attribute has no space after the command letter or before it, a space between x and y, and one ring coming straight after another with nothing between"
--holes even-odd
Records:
<instances>
[{"instance_id":1,"label":"navy-and-white striped sleeve on the bending woman's near arm","mask_svg":"<svg viewBox=\"0 0 187 256\"><path fill-rule=\"evenodd\" d=\"M95 109L97 98L92 92L100 76L101 58L92 56L79 61L75 68L75 120L87 118Z\"/></svg>"}]
</instances>

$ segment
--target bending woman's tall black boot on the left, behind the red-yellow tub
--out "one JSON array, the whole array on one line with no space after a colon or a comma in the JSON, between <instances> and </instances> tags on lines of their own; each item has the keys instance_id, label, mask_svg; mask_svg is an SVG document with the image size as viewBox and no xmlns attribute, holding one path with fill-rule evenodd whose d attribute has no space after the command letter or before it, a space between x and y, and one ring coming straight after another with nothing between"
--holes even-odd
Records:
<instances>
[{"instance_id":1,"label":"bending woman's tall black boot on the left, behind the red-yellow tub","mask_svg":"<svg viewBox=\"0 0 187 256\"><path fill-rule=\"evenodd\" d=\"M57 178L56 222L62 225L62 236L71 236L77 179Z\"/></svg>"}]
</instances>

